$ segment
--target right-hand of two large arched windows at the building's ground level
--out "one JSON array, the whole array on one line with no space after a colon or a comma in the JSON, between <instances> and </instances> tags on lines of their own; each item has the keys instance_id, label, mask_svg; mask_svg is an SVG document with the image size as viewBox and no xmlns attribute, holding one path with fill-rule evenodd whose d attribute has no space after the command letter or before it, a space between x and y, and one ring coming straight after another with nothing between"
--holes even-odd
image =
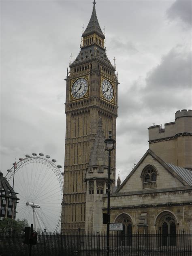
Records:
<instances>
[{"instance_id":1,"label":"right-hand of two large arched windows at the building's ground level","mask_svg":"<svg viewBox=\"0 0 192 256\"><path fill-rule=\"evenodd\" d=\"M164 214L159 221L159 229L162 233L162 245L176 245L176 221L171 214Z\"/></svg>"}]
</instances>

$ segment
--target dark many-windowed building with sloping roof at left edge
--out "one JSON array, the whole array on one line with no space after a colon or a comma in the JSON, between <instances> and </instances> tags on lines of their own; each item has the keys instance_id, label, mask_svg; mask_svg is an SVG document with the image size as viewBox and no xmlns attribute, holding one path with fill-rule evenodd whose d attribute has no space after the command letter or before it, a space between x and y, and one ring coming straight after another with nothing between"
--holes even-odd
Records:
<instances>
[{"instance_id":1,"label":"dark many-windowed building with sloping roof at left edge","mask_svg":"<svg viewBox=\"0 0 192 256\"><path fill-rule=\"evenodd\" d=\"M0 172L0 220L3 218L12 218L15 220L17 201L19 198L9 182Z\"/></svg>"}]
</instances>

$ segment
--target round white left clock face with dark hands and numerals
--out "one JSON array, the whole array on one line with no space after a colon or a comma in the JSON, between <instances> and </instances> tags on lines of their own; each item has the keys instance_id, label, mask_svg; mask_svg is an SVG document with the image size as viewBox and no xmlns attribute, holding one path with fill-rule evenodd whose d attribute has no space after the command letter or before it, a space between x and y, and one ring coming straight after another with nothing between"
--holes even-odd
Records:
<instances>
[{"instance_id":1,"label":"round white left clock face with dark hands and numerals","mask_svg":"<svg viewBox=\"0 0 192 256\"><path fill-rule=\"evenodd\" d=\"M77 79L71 88L71 93L75 98L82 98L88 89L88 82L85 78L81 77Z\"/></svg>"}]
</instances>

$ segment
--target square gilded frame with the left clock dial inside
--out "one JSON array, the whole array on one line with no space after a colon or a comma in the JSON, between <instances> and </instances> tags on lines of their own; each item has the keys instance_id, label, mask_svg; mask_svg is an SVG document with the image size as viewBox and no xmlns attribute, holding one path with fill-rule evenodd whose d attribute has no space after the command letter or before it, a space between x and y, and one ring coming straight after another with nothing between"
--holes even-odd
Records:
<instances>
[{"instance_id":1,"label":"square gilded frame with the left clock dial inside","mask_svg":"<svg viewBox=\"0 0 192 256\"><path fill-rule=\"evenodd\" d=\"M81 100L90 96L90 76L83 75L70 79L70 101Z\"/></svg>"}]
</instances>

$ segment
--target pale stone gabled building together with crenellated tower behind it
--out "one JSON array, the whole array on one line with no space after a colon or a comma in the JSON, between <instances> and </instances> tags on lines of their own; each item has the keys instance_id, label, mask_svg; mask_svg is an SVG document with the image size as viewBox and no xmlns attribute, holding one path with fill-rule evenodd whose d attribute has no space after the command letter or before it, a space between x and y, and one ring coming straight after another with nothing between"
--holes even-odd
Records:
<instances>
[{"instance_id":1,"label":"pale stone gabled building together with crenellated tower behind it","mask_svg":"<svg viewBox=\"0 0 192 256\"><path fill-rule=\"evenodd\" d=\"M191 135L191 110L177 111L175 122L165 124L165 129L149 127L149 149L111 194L111 222L123 223L125 233L192 230ZM150 149L152 143L164 160ZM102 209L107 211L107 195Z\"/></svg>"}]
</instances>

